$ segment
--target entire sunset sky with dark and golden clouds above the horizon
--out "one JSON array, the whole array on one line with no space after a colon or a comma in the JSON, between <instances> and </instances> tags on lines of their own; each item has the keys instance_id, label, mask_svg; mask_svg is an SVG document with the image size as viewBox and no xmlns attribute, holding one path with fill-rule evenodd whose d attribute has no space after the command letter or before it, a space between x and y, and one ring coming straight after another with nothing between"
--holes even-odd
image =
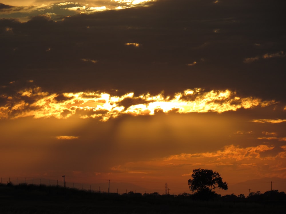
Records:
<instances>
[{"instance_id":1,"label":"entire sunset sky with dark and golden clouds above the horizon","mask_svg":"<svg viewBox=\"0 0 286 214\"><path fill-rule=\"evenodd\" d=\"M286 191L284 0L0 3L3 183Z\"/></svg>"}]
</instances>

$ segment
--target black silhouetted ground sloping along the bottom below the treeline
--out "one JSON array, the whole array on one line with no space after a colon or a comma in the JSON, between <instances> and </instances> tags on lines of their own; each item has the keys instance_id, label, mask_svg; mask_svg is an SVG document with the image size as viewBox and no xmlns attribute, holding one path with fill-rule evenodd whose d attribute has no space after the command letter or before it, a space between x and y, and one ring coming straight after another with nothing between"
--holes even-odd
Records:
<instances>
[{"instance_id":1,"label":"black silhouetted ground sloping along the bottom below the treeline","mask_svg":"<svg viewBox=\"0 0 286 214\"><path fill-rule=\"evenodd\" d=\"M284 213L285 201L193 201L188 196L95 193L63 187L0 186L0 213Z\"/></svg>"}]
</instances>

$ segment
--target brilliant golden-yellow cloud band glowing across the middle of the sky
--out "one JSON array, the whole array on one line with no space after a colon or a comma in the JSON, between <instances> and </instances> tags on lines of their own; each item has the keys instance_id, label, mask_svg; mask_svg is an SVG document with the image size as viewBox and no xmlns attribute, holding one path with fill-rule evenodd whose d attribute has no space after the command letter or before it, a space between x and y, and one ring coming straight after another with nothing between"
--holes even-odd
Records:
<instances>
[{"instance_id":1,"label":"brilliant golden-yellow cloud band glowing across the middle of the sky","mask_svg":"<svg viewBox=\"0 0 286 214\"><path fill-rule=\"evenodd\" d=\"M126 102L127 101L127 102ZM124 104L125 103L125 104ZM127 104L127 105L126 105ZM262 101L259 98L239 97L230 90L211 90L205 92L200 88L185 90L171 96L149 93L134 96L127 93L114 96L105 92L77 92L50 94L40 87L20 90L14 96L6 98L6 103L0 106L0 118L98 118L107 121L120 115L154 115L177 112L217 112L236 111L240 108L265 107L276 104L274 100ZM253 120L265 122L267 120ZM282 122L281 120L278 120ZM286 120L283 120L285 122Z\"/></svg>"}]
</instances>

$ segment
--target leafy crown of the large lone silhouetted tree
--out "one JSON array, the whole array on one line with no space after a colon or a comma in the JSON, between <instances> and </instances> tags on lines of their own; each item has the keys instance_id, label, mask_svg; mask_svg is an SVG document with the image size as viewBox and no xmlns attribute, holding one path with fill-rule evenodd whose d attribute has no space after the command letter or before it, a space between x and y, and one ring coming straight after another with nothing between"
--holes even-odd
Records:
<instances>
[{"instance_id":1,"label":"leafy crown of the large lone silhouetted tree","mask_svg":"<svg viewBox=\"0 0 286 214\"><path fill-rule=\"evenodd\" d=\"M188 180L189 188L192 192L212 191L212 189L220 188L227 190L227 183L219 173L211 169L194 169L192 179Z\"/></svg>"}]
</instances>

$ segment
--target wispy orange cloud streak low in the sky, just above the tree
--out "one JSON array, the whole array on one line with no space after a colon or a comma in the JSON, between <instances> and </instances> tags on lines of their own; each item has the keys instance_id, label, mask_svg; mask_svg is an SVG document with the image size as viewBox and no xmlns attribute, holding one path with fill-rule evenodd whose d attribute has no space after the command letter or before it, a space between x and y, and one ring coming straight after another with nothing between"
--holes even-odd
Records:
<instances>
[{"instance_id":1,"label":"wispy orange cloud streak low in the sky, just above the tree","mask_svg":"<svg viewBox=\"0 0 286 214\"><path fill-rule=\"evenodd\" d=\"M271 154L271 152L273 153ZM112 171L118 173L162 173L163 175L166 173L169 179L171 177L168 175L169 173L175 173L177 176L182 177L190 176L191 172L182 173L190 171L190 168L212 168L222 171L224 174L229 174L230 171L234 173L237 170L243 173L247 169L254 170L255 173L263 173L266 170L271 175L277 169L285 166L285 164L277 166L272 164L273 161L283 163L286 157L285 154L285 146L276 149L271 145L251 147L228 145L216 152L182 153L166 158L156 158L156 160L123 163L112 167ZM271 167L269 167L270 165ZM264 169L261 168L262 166L264 166Z\"/></svg>"}]
</instances>

